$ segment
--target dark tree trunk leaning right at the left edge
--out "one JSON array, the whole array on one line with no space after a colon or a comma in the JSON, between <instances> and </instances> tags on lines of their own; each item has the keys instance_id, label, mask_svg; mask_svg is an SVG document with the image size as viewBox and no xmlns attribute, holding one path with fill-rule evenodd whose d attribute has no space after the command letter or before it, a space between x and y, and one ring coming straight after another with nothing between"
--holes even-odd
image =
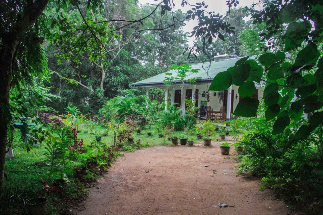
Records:
<instances>
[{"instance_id":1,"label":"dark tree trunk leaning right at the left edge","mask_svg":"<svg viewBox=\"0 0 323 215\"><path fill-rule=\"evenodd\" d=\"M36 22L43 13L49 0L27 1L21 10L23 14L17 14L17 20L12 23L14 26L9 32L2 33L1 53L0 53L0 188L4 184L5 173L5 149L7 145L7 128L11 120L9 110L10 82L12 77L12 63L19 42L19 36L24 35L26 31ZM7 15L4 12L5 15ZM26 22L28 20L29 22Z\"/></svg>"}]
</instances>

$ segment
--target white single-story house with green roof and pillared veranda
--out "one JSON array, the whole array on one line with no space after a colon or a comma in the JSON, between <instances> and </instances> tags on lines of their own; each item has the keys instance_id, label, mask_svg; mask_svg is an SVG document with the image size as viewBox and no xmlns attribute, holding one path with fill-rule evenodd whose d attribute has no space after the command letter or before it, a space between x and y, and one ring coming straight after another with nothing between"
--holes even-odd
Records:
<instances>
[{"instance_id":1,"label":"white single-story house with green roof and pillared veranda","mask_svg":"<svg viewBox=\"0 0 323 215\"><path fill-rule=\"evenodd\" d=\"M220 111L221 107L225 107L226 119L231 118L231 114L234 112L241 97L238 93L239 86L232 85L227 90L224 91L209 91L210 84L213 78L220 72L226 71L229 67L234 67L236 61L242 57L237 57L235 55L220 55L215 56L214 61L211 63L199 63L193 64L193 69L199 69L198 73L190 74L188 79L194 77L201 77L197 79L196 82L190 83L185 82L183 85L183 90L181 89L181 83L178 80L171 81L172 85L165 85L165 73L138 81L131 84L132 87L146 87L147 96L149 96L149 89L151 87L158 87L165 89L165 103L168 104L169 100L169 90L171 91L170 102L182 104L181 107L185 107L185 98L192 98L196 101L196 107L205 108L205 106L210 106L215 111ZM170 70L168 73L172 73L172 76L176 76L177 72L175 70ZM181 100L181 94L182 100ZM185 95L185 96L184 96ZM256 85L256 91L253 95L254 98L261 99L263 97L263 87ZM167 105L166 107L167 108ZM182 108L182 112L185 110ZM201 118L205 118L205 113L201 111Z\"/></svg>"}]
</instances>

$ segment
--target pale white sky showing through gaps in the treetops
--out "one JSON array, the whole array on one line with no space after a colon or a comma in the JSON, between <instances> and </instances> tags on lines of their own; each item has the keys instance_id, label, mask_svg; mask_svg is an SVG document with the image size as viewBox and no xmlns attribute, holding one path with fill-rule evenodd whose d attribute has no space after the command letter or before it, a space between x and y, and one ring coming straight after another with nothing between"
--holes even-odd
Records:
<instances>
[{"instance_id":1,"label":"pale white sky showing through gaps in the treetops","mask_svg":"<svg viewBox=\"0 0 323 215\"><path fill-rule=\"evenodd\" d=\"M182 0L173 0L175 3L175 10L181 9L183 12L186 12L188 10L191 10L192 6L185 5L182 7ZM220 15L225 15L225 11L228 9L228 5L226 5L226 0L191 0L189 3L193 5L196 2L205 2L205 5L208 5L207 10L215 13L219 13ZM157 1L160 2L160 1ZM239 5L238 7L244 7L244 6L251 6L252 4L259 3L257 0L239 0ZM139 3L142 5L146 3L150 4L156 4L154 0L139 0ZM191 20L186 22L186 26L183 27L184 32L191 32L193 31L193 27L195 27L198 24L197 19ZM193 46L193 41L194 41L194 36L193 37L188 37L188 43L190 46Z\"/></svg>"}]
</instances>

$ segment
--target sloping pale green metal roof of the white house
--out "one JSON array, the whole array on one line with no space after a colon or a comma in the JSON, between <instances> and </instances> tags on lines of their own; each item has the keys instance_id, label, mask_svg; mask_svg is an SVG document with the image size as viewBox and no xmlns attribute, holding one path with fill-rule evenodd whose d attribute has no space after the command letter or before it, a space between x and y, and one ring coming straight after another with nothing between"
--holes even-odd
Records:
<instances>
[{"instance_id":1,"label":"sloping pale green metal roof of the white house","mask_svg":"<svg viewBox=\"0 0 323 215\"><path fill-rule=\"evenodd\" d=\"M198 79L196 81L196 84L207 84L211 83L213 78L220 72L226 71L229 67L234 67L235 62L237 62L242 57L234 57L224 60L217 60L217 61L211 61L211 64L209 62L207 63L199 63L199 64L193 64L193 69L200 69L198 73L193 73L187 77L187 79L191 79L194 77L202 77L202 79ZM169 73L172 73L172 76L176 76L175 70L168 71ZM136 83L131 84L132 87L161 87L165 86L164 81L165 80L165 73L161 73L159 75L146 78L144 80L138 81ZM178 80L172 81L172 85L177 85L176 82ZM180 85L178 83L178 85Z\"/></svg>"}]
</instances>

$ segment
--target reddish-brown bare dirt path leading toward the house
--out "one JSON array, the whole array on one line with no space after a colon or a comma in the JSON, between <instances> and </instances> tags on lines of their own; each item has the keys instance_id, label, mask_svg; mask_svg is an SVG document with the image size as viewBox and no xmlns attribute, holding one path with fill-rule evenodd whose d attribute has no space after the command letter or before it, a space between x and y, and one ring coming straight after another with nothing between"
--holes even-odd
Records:
<instances>
[{"instance_id":1,"label":"reddish-brown bare dirt path leading toward the house","mask_svg":"<svg viewBox=\"0 0 323 215\"><path fill-rule=\"evenodd\" d=\"M233 147L230 155L224 156L219 142L212 144L211 147L157 146L126 153L90 189L90 197L83 203L86 209L77 213L292 213L284 202L273 200L269 190L259 191L258 179L236 177ZM219 208L218 203L234 207Z\"/></svg>"}]
</instances>

